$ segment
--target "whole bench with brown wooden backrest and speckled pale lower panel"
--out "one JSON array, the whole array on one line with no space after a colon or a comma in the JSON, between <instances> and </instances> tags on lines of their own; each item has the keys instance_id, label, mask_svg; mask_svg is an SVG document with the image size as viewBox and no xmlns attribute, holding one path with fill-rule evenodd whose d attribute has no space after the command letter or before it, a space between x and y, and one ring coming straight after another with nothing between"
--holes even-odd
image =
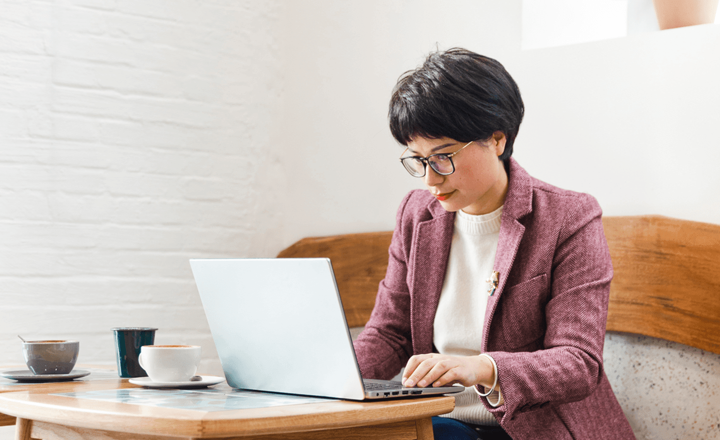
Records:
<instances>
[{"instance_id":1,"label":"whole bench with brown wooden backrest and speckled pale lower panel","mask_svg":"<svg viewBox=\"0 0 720 440\"><path fill-rule=\"evenodd\" d=\"M720 226L657 215L604 217L603 225L615 273L606 372L636 436L720 439ZM361 327L391 238L303 238L278 257L328 257L348 325Z\"/></svg>"}]
</instances>

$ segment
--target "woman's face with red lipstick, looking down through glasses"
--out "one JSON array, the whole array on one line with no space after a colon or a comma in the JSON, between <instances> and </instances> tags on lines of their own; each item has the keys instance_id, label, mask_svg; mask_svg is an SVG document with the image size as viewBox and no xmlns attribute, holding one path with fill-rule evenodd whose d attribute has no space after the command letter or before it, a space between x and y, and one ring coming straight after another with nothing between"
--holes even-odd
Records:
<instances>
[{"instance_id":1,"label":"woman's face with red lipstick, looking down through glasses","mask_svg":"<svg viewBox=\"0 0 720 440\"><path fill-rule=\"evenodd\" d=\"M465 143L451 138L415 138L408 143L404 156L427 157L435 153L454 153ZM505 135L493 133L489 140L478 140L452 156L455 172L437 174L426 166L423 177L428 190L447 211L463 210L467 214L488 214L505 203L508 175L498 156L505 151Z\"/></svg>"}]
</instances>

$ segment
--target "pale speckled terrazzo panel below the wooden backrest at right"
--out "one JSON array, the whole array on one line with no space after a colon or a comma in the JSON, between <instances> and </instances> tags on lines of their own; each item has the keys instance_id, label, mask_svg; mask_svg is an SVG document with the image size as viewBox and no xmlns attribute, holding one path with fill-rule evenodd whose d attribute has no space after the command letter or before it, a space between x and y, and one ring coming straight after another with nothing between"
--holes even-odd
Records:
<instances>
[{"instance_id":1,"label":"pale speckled terrazzo panel below the wooden backrest at right","mask_svg":"<svg viewBox=\"0 0 720 440\"><path fill-rule=\"evenodd\" d=\"M720 354L608 332L604 358L638 440L720 439Z\"/></svg>"}]
</instances>

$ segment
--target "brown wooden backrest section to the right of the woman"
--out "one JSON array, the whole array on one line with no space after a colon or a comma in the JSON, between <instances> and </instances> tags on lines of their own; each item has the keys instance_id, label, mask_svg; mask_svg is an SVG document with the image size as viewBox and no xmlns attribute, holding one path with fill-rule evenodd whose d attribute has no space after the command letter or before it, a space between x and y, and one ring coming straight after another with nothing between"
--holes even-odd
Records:
<instances>
[{"instance_id":1,"label":"brown wooden backrest section to the right of the woman","mask_svg":"<svg viewBox=\"0 0 720 440\"><path fill-rule=\"evenodd\" d=\"M720 226L659 215L603 226L615 272L608 330L720 354Z\"/></svg>"}]
</instances>

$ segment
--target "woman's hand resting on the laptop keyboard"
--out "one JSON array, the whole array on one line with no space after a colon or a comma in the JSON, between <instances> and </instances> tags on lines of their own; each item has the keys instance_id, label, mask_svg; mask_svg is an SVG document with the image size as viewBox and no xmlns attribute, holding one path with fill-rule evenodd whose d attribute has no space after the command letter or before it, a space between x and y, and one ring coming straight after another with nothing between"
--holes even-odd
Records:
<instances>
[{"instance_id":1,"label":"woman's hand resting on the laptop keyboard","mask_svg":"<svg viewBox=\"0 0 720 440\"><path fill-rule=\"evenodd\" d=\"M487 356L417 354L408 360L402 373L405 387L441 387L458 383L465 387L480 384L489 388L493 382L495 372Z\"/></svg>"}]
</instances>

